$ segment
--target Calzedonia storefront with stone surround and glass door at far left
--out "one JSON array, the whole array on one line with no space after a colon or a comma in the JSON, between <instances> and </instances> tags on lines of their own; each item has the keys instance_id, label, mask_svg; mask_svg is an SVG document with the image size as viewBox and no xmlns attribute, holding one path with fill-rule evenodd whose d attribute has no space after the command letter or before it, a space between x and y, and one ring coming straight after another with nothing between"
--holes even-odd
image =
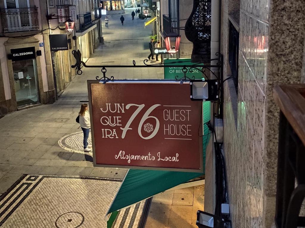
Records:
<instances>
[{"instance_id":1,"label":"Calzedonia storefront with stone surround and glass door at far left","mask_svg":"<svg viewBox=\"0 0 305 228\"><path fill-rule=\"evenodd\" d=\"M55 101L43 35L0 38L0 114Z\"/></svg>"}]
</instances>

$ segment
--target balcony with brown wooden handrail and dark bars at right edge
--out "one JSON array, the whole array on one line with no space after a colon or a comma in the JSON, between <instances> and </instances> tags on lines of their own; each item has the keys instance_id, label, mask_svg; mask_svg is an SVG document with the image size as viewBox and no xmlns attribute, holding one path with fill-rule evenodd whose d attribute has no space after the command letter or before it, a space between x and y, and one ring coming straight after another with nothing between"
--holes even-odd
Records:
<instances>
[{"instance_id":1,"label":"balcony with brown wooden handrail and dark bars at right edge","mask_svg":"<svg viewBox=\"0 0 305 228\"><path fill-rule=\"evenodd\" d=\"M275 224L304 227L305 85L278 85L274 99L280 107Z\"/></svg>"}]
</instances>

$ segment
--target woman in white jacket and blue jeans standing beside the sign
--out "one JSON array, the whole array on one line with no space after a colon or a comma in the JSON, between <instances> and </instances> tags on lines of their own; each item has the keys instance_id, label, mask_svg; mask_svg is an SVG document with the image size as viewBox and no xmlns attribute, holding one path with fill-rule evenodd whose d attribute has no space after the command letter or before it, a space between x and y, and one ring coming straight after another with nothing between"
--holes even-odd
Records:
<instances>
[{"instance_id":1,"label":"woman in white jacket and blue jeans standing beside the sign","mask_svg":"<svg viewBox=\"0 0 305 228\"><path fill-rule=\"evenodd\" d=\"M92 145L88 145L88 137L90 132L90 114L87 104L81 105L81 111L79 112L79 123L81 124L81 130L84 132L84 151L91 151Z\"/></svg>"}]
</instances>

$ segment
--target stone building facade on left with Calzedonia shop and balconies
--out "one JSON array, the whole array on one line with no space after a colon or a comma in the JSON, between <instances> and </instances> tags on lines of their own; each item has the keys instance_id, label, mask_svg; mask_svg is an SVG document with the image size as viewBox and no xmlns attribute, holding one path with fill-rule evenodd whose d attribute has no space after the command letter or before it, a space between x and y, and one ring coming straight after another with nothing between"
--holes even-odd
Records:
<instances>
[{"instance_id":1,"label":"stone building facade on left with Calzedonia shop and balconies","mask_svg":"<svg viewBox=\"0 0 305 228\"><path fill-rule=\"evenodd\" d=\"M71 6L76 16L75 29L69 32L64 21ZM0 115L56 101L76 75L70 67L72 50L80 49L86 61L103 42L99 6L97 0L0 3ZM45 16L51 14L55 19ZM56 19L58 15L65 17ZM69 50L51 51L52 34L66 34Z\"/></svg>"}]
</instances>

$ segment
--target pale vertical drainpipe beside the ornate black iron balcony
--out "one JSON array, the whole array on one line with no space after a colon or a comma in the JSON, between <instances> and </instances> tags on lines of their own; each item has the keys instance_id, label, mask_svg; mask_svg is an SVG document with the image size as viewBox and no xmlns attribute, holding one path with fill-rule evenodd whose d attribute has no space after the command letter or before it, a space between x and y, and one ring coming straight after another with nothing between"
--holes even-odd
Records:
<instances>
[{"instance_id":1,"label":"pale vertical drainpipe beside the ornate black iron balcony","mask_svg":"<svg viewBox=\"0 0 305 228\"><path fill-rule=\"evenodd\" d=\"M220 52L220 0L212 0L211 9L211 59L219 58L216 53ZM216 65L217 60L212 60L211 65ZM211 71L219 78L219 69L211 67ZM211 73L211 79L216 79Z\"/></svg>"}]
</instances>

